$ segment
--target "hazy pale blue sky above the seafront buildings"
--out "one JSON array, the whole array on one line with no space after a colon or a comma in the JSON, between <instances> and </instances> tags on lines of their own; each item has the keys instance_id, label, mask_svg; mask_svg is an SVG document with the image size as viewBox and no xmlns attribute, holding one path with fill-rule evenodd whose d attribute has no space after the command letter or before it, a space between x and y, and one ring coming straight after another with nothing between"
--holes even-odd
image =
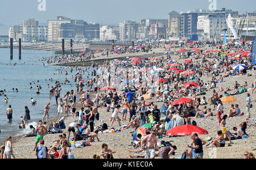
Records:
<instances>
[{"instance_id":1,"label":"hazy pale blue sky above the seafront buildings","mask_svg":"<svg viewBox=\"0 0 256 170\"><path fill-rule=\"evenodd\" d=\"M168 12L208 9L214 0L46 0L46 11L39 11L41 0L1 0L0 23L20 24L22 20L35 18L40 23L56 16L83 19L86 22L118 24L124 20L139 22L143 18L167 19ZM256 10L255 0L215 0L217 9L226 7L240 14Z\"/></svg>"}]
</instances>

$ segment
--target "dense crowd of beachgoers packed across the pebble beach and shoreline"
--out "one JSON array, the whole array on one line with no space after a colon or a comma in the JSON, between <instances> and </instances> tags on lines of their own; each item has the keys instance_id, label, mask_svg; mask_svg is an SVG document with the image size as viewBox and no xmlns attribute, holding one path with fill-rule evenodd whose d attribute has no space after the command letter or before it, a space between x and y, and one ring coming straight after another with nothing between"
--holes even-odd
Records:
<instances>
[{"instance_id":1,"label":"dense crowd of beachgoers packed across the pebble beach and shoreline","mask_svg":"<svg viewBox=\"0 0 256 170\"><path fill-rule=\"evenodd\" d=\"M165 46L169 44L163 44ZM177 44L174 44L177 45ZM204 47L207 42L195 43L193 45L180 44L180 48L201 48ZM217 44L212 45L212 49ZM151 127L147 127L143 135L137 134L137 137L131 144L134 148L129 150L135 152L137 155L129 155L130 158L170 158L171 155L177 155L177 146L171 143L160 141L161 138L166 137L167 130L175 128L180 125L196 125L196 122L191 122L191 118L205 118L213 117L214 113L217 116L218 125L220 130L217 131L216 138L208 141L199 138L199 135L191 134L191 143L188 148L191 151L186 150L181 156L182 158L203 158L203 145L206 145L205 149L212 146L225 147L226 139L229 141L229 146L233 144L233 140L241 139L246 133L246 128L249 124L249 119L252 114L250 112L251 104L255 100L250 98L251 94L254 95L256 88L255 67L251 66L251 58L248 56L242 56L242 52L249 51L251 44L243 43L241 45L218 45L217 50L210 52L197 52L192 53L191 56L187 56L187 53L179 50L177 55L180 58L192 58L191 61L186 62L170 62L170 56L158 57L158 58L145 58L145 59L133 59L129 62L117 62L117 61L105 61L104 65L98 66L96 63L92 64L92 67L97 68L98 73L95 70L92 73L88 72L88 76L84 73L82 67L75 67L75 76L72 79L77 83L77 89L71 90L60 97L61 86L60 82L55 83L55 87L51 87L49 93L56 98L57 116L72 117L72 123L68 125L68 135L63 133L59 135L59 139L56 139L55 144L49 147L44 146L44 135L49 133L46 125L43 124L44 118L48 121L49 107L51 103L47 103L44 107L44 116L39 124L34 128L30 127L31 133L24 135L24 137L34 137L36 135L36 141L33 151L36 151L38 158L72 158L72 147L75 142L83 141L80 146L88 146L94 142L95 139L100 141L98 137L102 133L114 133L121 130L133 129L132 133L135 135L135 131L141 128L142 125L149 124ZM158 46L159 47L159 46ZM152 46L139 47L143 52L152 49ZM117 53L127 53L129 50L120 48ZM241 53L240 53L241 52ZM233 54L230 54L233 53ZM229 55L241 54L239 59L231 59ZM93 55L93 54L92 54ZM55 56L50 58L43 58L47 63L64 63L73 61L85 61L85 56ZM201 59L201 61L200 61ZM138 61L138 62L137 62ZM246 69L234 70L235 65L245 65ZM118 69L126 70L126 73ZM70 67L72 73L73 68ZM132 75L129 74L129 70L139 70ZM254 73L251 72L254 71ZM59 70L58 70L59 71ZM86 70L85 70L86 71ZM250 71L250 73L249 73ZM130 71L131 72L131 71ZM66 72L67 73L67 72ZM92 76L90 76L92 75ZM110 76L111 75L111 76ZM244 75L248 79L254 79L253 84L238 84L234 83L233 87L228 87L217 90L217 84L224 82L224 78ZM89 76L91 78L89 78ZM210 81L204 80L205 76L210 76ZM254 78L253 78L254 76ZM85 78L86 77L86 78ZM121 86L115 86L118 80ZM68 82L68 80L67 80ZM228 80L226 80L228 82ZM185 86L186 83L190 83ZM230 82L229 82L230 83ZM106 86L106 88L101 89ZM40 88L38 88L39 92ZM105 92L102 92L105 91ZM212 93L212 96L207 99L205 94ZM221 95L224 93L224 95ZM240 94L247 94L246 98L246 111L241 111L240 105L231 105L229 113L224 113L224 105L221 100L222 97L236 96ZM78 97L78 95L80 97ZM176 100L189 98L190 101L174 104ZM78 100L77 100L78 99ZM148 103L146 103L146 100ZM36 101L31 99L31 103L35 104ZM158 108L158 104L166 105L166 111L162 113ZM213 105L213 109L209 108ZM100 113L99 108L105 108L105 113ZM11 106L7 109L7 116L11 113ZM96 127L100 122L102 114L109 115L110 123L101 121L101 126ZM230 117L243 116L247 118L246 121L240 125L241 129L233 128L235 133L230 133L226 129ZM10 116L8 117L11 121ZM23 118L23 117L21 117ZM25 116L23 118L24 124L30 120L30 112L25 107ZM122 122L127 120L126 125L122 125ZM129 120L129 121L128 121ZM98 122L97 122L98 121ZM166 127L166 122L172 122L170 126ZM116 123L117 122L117 123ZM51 125L53 126L53 125ZM255 124L254 124L255 126ZM115 127L115 128L114 128ZM71 138L71 132L73 138ZM246 137L245 137L246 138ZM38 146L38 143L40 144ZM10 158L13 154L9 152L11 144L6 143L7 151L4 157ZM58 152L60 150L60 152ZM109 150L107 144L102 145L102 151L100 155L93 155L93 158L108 158L113 159L115 151ZM247 152L246 152L247 153ZM253 155L245 155L246 158L253 158Z\"/></svg>"}]
</instances>

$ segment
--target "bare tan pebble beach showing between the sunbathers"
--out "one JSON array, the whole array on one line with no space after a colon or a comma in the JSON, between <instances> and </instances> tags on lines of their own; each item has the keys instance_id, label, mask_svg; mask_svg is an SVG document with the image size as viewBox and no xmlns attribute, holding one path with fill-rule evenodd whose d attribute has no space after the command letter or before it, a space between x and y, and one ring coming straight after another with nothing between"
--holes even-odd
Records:
<instances>
[{"instance_id":1,"label":"bare tan pebble beach showing between the sunbathers","mask_svg":"<svg viewBox=\"0 0 256 170\"><path fill-rule=\"evenodd\" d=\"M172 49L175 50L175 49ZM179 59L177 56L172 55L172 59L175 59L178 62L183 62L185 59ZM201 62L201 59L192 59L193 62L199 61ZM209 59L210 61L212 59ZM250 74L255 74L255 71L249 70L247 73ZM218 76L219 78L219 76ZM201 79L204 82L209 82L211 80L211 76L202 76ZM216 91L218 88L221 86L222 88L226 89L228 87L232 87L234 82L237 81L239 84L249 84L249 87L251 87L251 84L254 81L254 76L247 76L247 75L239 75L239 76L228 76L227 78L224 78L224 82L222 83L217 83ZM171 88L174 88L172 84ZM212 90L213 90L212 89ZM210 97L212 97L212 90L209 90L206 92L206 95L203 95L206 97L208 100ZM121 91L117 91L118 94L121 94ZM246 94L250 93L251 100L256 99L256 94L251 94L251 91L249 90L248 92L245 92L243 94L238 94L233 97L237 99L237 101L233 102L232 104L238 104L241 112L245 113L246 115ZM218 92L218 95L224 95L224 92ZM200 96L200 97L203 97ZM78 96L80 97L80 96ZM191 97L191 96L190 96ZM146 100L146 103L151 102L152 100ZM163 102L158 102L154 103L158 105L158 108L160 108L163 104ZM224 114L228 114L229 109L230 109L231 103L224 103ZM77 103L77 108L81 108L81 105ZM203 106L200 105L200 109L203 109ZM195 120L197 122L197 126L200 126L201 128L207 130L209 134L207 135L199 135L200 138L207 138L207 137L216 137L217 131L220 129L220 126L218 125L218 120L216 116L216 111L213 111L213 105L207 105L207 108L211 108L212 112L214 114L213 117L205 117L205 118L191 118L192 120ZM100 113L100 121L96 122L96 127L101 125L101 120L105 121L108 125L110 125L109 118L111 116L111 113L106 112L106 108L99 108L98 113ZM253 102L253 108L251 108L251 118L255 117L256 113L256 103ZM56 113L50 113L50 116L54 116L57 114ZM224 115L222 114L222 116ZM129 116L128 116L129 117ZM49 122L57 121L56 118L52 118ZM226 129L229 131L233 131L233 127L236 126L238 127L241 122L244 122L246 120L246 116L236 116L236 117L230 117L226 121ZM249 120L251 121L251 119ZM68 128L68 125L73 122L72 116L69 114L69 117L65 117L65 125ZM121 121L121 125L127 125L128 121ZM114 122L115 129L118 129L118 124L117 122ZM68 134L68 130L63 129L63 133ZM101 152L101 145L103 143L108 144L109 148L113 151L116 151L115 154L113 154L114 158L121 158L121 159L126 159L129 158L129 155L135 155L134 153L130 153L129 149L133 148L130 146L132 142L132 133L133 129L121 129L120 132L117 133L104 133L98 135L100 142L97 140L95 142L91 142L90 145L92 146L86 146L84 148L74 148L71 149L71 152L75 156L76 159L92 159L93 155L100 155ZM249 151L252 152L254 155L256 154L256 151L254 149L256 143L255 143L255 127L250 126L246 130L247 134L249 134L249 138L245 139L237 139L234 140L234 144L232 146L225 146L225 147L219 147L216 148L216 152L214 153L214 158L217 159L241 159L243 157L243 152ZM52 144L52 141L58 139L58 136L60 134L47 134L44 136L44 141L45 141L45 146L49 146ZM73 137L73 134L71 133L71 138ZM180 156L185 150L187 150L187 145L189 145L191 141L190 136L185 136L185 137L168 137L168 136L163 136L162 139L159 139L160 141L174 141L172 142L172 145L177 146L177 152L179 155L175 156L170 156L170 158L177 158ZM79 143L80 141L78 141ZM14 150L14 155L16 156L17 159L35 159L36 155L35 152L32 151L32 148L34 147L35 143L35 137L30 137L30 138L20 138L20 137L15 137L14 142L13 142L13 150ZM209 143L209 142L208 142ZM228 141L227 141L228 143ZM158 157L156 157L158 158ZM204 158L213 158L212 157L212 150L210 149L204 149Z\"/></svg>"}]
</instances>

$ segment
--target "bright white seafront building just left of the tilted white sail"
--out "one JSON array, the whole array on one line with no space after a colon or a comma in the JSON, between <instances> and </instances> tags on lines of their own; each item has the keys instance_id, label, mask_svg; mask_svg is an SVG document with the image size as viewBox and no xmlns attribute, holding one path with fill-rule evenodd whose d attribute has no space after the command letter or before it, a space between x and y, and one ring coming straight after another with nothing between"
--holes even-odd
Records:
<instances>
[{"instance_id":1,"label":"bright white seafront building just left of the tilted white sail","mask_svg":"<svg viewBox=\"0 0 256 170\"><path fill-rule=\"evenodd\" d=\"M197 35L199 40L221 40L221 34L227 29L225 16L223 15L200 15L197 18Z\"/></svg>"}]
</instances>

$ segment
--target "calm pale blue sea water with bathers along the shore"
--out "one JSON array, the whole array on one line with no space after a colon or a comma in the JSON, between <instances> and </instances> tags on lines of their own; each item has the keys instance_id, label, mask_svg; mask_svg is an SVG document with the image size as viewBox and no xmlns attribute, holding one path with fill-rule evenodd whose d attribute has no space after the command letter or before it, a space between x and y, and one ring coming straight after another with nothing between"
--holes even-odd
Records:
<instances>
[{"instance_id":1,"label":"calm pale blue sea water with bathers along the shore","mask_svg":"<svg viewBox=\"0 0 256 170\"><path fill-rule=\"evenodd\" d=\"M42 57L52 55L52 52L22 50L22 59L19 60L18 50L14 49L13 60L10 60L10 49L0 49L0 90L5 89L7 91L5 94L9 98L6 104L5 97L0 96L0 139L6 138L7 136L26 134L31 131L29 125L36 126L38 120L42 120L44 106L48 101L51 102L49 116L57 116L55 96L49 95L50 89L47 88L47 84L49 84L50 87L55 87L55 82L60 79L62 88L60 97L63 97L67 91L71 91L72 89L76 91L76 82L70 77L71 75L69 74L71 73L69 72L69 68L42 65L42 62L46 63L45 61L41 61ZM17 65L14 66L14 63L17 63ZM63 69L63 73L57 74L56 69ZM68 75L64 74L65 71L68 71ZM73 69L72 75L75 74L76 71ZM53 79L52 82L49 80L51 78ZM64 84L65 78L67 78L70 83ZM30 83L32 83L32 85L30 85ZM37 95L36 86L39 85L42 89L40 90L40 94ZM30 90L31 86L32 90ZM13 88L18 88L18 92L13 91ZM31 105L31 97L37 101L35 106ZM6 109L9 105L13 108L13 122L11 124L7 123L6 116ZM20 115L24 117L25 106L30 110L31 120L29 121L29 125L26 125L26 129L19 130Z\"/></svg>"}]
</instances>

